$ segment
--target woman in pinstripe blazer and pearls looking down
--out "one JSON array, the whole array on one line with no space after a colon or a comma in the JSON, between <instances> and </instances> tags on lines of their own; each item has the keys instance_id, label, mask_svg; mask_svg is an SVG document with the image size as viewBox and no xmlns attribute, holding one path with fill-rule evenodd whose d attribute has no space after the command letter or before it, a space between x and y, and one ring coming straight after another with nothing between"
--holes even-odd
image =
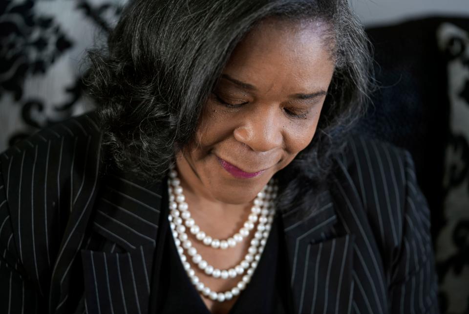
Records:
<instances>
[{"instance_id":1,"label":"woman in pinstripe blazer and pearls looking down","mask_svg":"<svg viewBox=\"0 0 469 314\"><path fill-rule=\"evenodd\" d=\"M347 1L135 0L91 60L97 112L1 155L1 313L438 312Z\"/></svg>"}]
</instances>

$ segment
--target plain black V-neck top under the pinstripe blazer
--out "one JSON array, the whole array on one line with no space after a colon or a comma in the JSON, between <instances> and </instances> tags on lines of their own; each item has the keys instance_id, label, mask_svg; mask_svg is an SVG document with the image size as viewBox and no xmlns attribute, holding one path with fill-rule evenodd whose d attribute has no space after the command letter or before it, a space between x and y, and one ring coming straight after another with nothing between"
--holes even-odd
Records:
<instances>
[{"instance_id":1,"label":"plain black V-neck top under the pinstripe blazer","mask_svg":"<svg viewBox=\"0 0 469 314\"><path fill-rule=\"evenodd\" d=\"M163 217L167 217L164 215ZM292 313L288 300L287 267L283 257L282 228L280 220L274 219L272 229L262 252L261 259L251 282L241 292L230 314L268 313L284 314ZM158 293L156 294L156 311L159 314L167 313L200 313L211 312L202 301L199 292L192 285L181 259L177 253L174 240L169 228L168 219L161 222L165 231L164 237L159 237L157 247L162 247L160 267L156 267ZM162 233L163 233L162 232Z\"/></svg>"}]
</instances>

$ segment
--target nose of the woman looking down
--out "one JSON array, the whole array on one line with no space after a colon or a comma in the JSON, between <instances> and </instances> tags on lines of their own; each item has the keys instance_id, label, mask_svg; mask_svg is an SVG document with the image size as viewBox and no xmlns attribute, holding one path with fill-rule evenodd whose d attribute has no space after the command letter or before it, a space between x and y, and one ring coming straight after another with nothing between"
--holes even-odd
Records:
<instances>
[{"instance_id":1,"label":"nose of the woman looking down","mask_svg":"<svg viewBox=\"0 0 469 314\"><path fill-rule=\"evenodd\" d=\"M276 109L272 106L250 111L235 128L235 139L255 152L268 152L280 147L283 142L282 125Z\"/></svg>"}]
</instances>

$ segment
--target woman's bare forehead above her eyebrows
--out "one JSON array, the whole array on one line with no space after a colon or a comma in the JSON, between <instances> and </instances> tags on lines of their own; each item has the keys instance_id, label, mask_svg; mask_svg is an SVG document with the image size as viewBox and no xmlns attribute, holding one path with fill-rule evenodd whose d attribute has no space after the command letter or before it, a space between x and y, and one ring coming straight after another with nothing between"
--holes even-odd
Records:
<instances>
[{"instance_id":1,"label":"woman's bare forehead above her eyebrows","mask_svg":"<svg viewBox=\"0 0 469 314\"><path fill-rule=\"evenodd\" d=\"M332 75L331 42L324 23L269 18L236 46L224 72L265 88L317 88Z\"/></svg>"}]
</instances>

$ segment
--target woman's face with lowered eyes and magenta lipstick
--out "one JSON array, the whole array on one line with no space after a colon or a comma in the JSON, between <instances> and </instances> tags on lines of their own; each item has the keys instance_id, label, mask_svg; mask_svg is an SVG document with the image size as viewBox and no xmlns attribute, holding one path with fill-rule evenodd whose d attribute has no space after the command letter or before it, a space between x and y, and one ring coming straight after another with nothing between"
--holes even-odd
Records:
<instances>
[{"instance_id":1,"label":"woman's face with lowered eyes and magenta lipstick","mask_svg":"<svg viewBox=\"0 0 469 314\"><path fill-rule=\"evenodd\" d=\"M176 160L193 190L251 202L308 146L334 71L324 29L269 19L236 47Z\"/></svg>"}]
</instances>

